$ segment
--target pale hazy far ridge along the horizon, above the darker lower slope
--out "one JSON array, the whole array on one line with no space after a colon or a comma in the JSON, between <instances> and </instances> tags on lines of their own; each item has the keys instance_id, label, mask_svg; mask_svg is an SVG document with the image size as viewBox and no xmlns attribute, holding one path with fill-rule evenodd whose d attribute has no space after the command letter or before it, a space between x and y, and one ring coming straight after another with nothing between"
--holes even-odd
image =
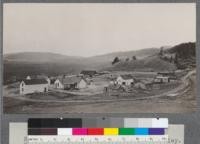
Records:
<instances>
[{"instance_id":1,"label":"pale hazy far ridge along the horizon, above the darker lower slope","mask_svg":"<svg viewBox=\"0 0 200 144\"><path fill-rule=\"evenodd\" d=\"M62 54L47 53L47 52L22 52L4 55L4 60L6 61L18 61L18 62L31 62L31 63L42 63L42 62L64 62L65 60L70 62L80 62L82 60L94 61L94 62L108 62L112 61L116 56L121 58L132 57L137 55L139 58L144 58L146 56L152 55L158 52L158 48L148 48L136 51L126 51L126 52L114 52L104 55L92 56L92 57L76 57L76 56L66 56ZM82 61L83 62L83 61Z\"/></svg>"}]
</instances>

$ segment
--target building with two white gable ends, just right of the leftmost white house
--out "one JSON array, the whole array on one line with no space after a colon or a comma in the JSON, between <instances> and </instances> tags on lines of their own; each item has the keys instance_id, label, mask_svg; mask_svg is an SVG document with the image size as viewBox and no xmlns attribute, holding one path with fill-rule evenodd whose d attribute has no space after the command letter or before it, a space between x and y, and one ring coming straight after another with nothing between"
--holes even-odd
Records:
<instances>
[{"instance_id":1,"label":"building with two white gable ends, just right of the leftmost white house","mask_svg":"<svg viewBox=\"0 0 200 144\"><path fill-rule=\"evenodd\" d=\"M83 89L87 85L86 80L77 76L57 78L54 82L54 87L57 89Z\"/></svg>"}]
</instances>

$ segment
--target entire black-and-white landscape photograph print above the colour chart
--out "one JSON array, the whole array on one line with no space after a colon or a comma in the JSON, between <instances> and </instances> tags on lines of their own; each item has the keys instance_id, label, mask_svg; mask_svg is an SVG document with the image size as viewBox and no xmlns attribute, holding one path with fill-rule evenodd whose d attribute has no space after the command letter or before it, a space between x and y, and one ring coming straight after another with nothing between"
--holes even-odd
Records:
<instances>
[{"instance_id":1,"label":"entire black-and-white landscape photograph print above the colour chart","mask_svg":"<svg viewBox=\"0 0 200 144\"><path fill-rule=\"evenodd\" d=\"M195 3L6 3L3 111L191 113Z\"/></svg>"}]
</instances>

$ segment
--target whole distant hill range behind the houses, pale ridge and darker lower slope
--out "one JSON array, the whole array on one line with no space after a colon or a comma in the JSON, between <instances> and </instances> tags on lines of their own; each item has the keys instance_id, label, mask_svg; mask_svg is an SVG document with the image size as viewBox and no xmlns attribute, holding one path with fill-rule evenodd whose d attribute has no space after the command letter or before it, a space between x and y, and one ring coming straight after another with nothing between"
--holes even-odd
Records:
<instances>
[{"instance_id":1,"label":"whole distant hill range behind the houses, pale ridge and darker lower slope","mask_svg":"<svg viewBox=\"0 0 200 144\"><path fill-rule=\"evenodd\" d=\"M159 49L144 49L140 51L116 52L89 58L66 56L54 53L23 52L4 55L4 82L12 77L21 79L27 75L60 75L76 74L83 69L101 70L109 67L116 56L145 57Z\"/></svg>"}]
</instances>

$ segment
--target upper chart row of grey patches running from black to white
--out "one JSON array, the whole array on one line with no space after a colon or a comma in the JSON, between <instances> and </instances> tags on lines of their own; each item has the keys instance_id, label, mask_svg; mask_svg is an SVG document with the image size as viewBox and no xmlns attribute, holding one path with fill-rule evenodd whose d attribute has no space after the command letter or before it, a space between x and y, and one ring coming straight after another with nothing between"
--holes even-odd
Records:
<instances>
[{"instance_id":1,"label":"upper chart row of grey patches running from black to white","mask_svg":"<svg viewBox=\"0 0 200 144\"><path fill-rule=\"evenodd\" d=\"M167 118L33 118L28 128L168 128Z\"/></svg>"}]
</instances>

